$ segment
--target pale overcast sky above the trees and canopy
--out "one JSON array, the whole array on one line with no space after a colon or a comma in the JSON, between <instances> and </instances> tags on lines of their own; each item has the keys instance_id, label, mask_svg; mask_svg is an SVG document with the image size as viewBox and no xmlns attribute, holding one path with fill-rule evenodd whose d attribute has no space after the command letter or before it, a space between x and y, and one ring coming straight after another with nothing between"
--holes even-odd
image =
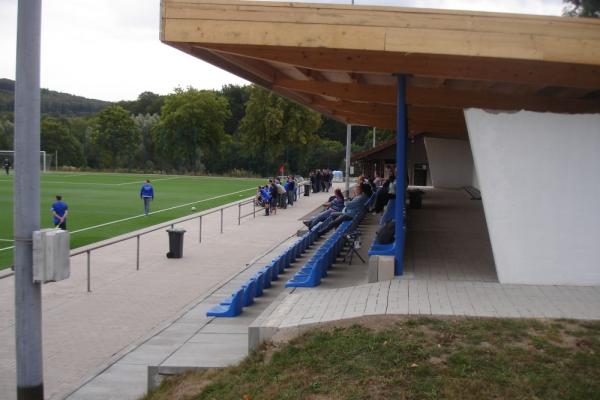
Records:
<instances>
[{"instance_id":1,"label":"pale overcast sky above the trees and canopy","mask_svg":"<svg viewBox=\"0 0 600 400\"><path fill-rule=\"evenodd\" d=\"M350 0L310 1L348 4ZM15 79L18 0L0 0L0 78ZM358 5L560 15L562 0L355 0ZM159 40L160 0L42 0L41 86L107 101L241 78Z\"/></svg>"}]
</instances>

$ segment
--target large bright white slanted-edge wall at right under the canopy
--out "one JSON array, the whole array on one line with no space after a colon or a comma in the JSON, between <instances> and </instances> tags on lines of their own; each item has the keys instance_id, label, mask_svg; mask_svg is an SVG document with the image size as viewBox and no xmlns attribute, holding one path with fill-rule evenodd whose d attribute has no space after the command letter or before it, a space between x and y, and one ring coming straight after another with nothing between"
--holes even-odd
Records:
<instances>
[{"instance_id":1,"label":"large bright white slanted-edge wall at right under the canopy","mask_svg":"<svg viewBox=\"0 0 600 400\"><path fill-rule=\"evenodd\" d=\"M500 282L600 284L600 115L465 118Z\"/></svg>"}]
</instances>

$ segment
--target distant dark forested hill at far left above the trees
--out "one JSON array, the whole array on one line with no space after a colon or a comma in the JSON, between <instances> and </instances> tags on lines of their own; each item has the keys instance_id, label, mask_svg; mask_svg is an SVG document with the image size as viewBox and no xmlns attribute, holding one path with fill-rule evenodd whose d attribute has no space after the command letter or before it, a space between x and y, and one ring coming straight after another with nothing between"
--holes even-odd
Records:
<instances>
[{"instance_id":1,"label":"distant dark forested hill at far left above the trees","mask_svg":"<svg viewBox=\"0 0 600 400\"><path fill-rule=\"evenodd\" d=\"M42 113L50 115L90 115L111 105L110 102L42 89ZM0 78L0 112L14 111L15 81Z\"/></svg>"}]
</instances>

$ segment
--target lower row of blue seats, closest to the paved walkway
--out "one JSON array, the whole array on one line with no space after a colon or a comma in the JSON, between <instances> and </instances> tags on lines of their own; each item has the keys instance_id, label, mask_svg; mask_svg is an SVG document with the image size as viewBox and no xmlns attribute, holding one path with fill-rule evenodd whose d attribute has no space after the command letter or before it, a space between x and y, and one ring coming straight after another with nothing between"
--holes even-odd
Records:
<instances>
[{"instance_id":1,"label":"lower row of blue seats, closest to the paved walkway","mask_svg":"<svg viewBox=\"0 0 600 400\"><path fill-rule=\"evenodd\" d=\"M321 222L300 237L285 252L277 256L267 266L258 271L246 283L227 297L221 303L207 311L209 317L236 317L242 313L243 307L254 303L255 297L263 295L263 290L271 287L271 282L279 279L279 274L285 272L296 258L304 252L320 236L320 227L327 221Z\"/></svg>"}]
</instances>

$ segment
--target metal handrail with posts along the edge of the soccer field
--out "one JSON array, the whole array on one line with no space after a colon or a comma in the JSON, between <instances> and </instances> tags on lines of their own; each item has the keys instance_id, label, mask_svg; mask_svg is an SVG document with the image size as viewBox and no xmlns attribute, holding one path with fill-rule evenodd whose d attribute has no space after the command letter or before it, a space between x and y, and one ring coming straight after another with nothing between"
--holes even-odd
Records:
<instances>
[{"instance_id":1,"label":"metal handrail with posts along the edge of the soccer field","mask_svg":"<svg viewBox=\"0 0 600 400\"><path fill-rule=\"evenodd\" d=\"M296 198L297 199L300 198L300 186L301 186L301 184L304 184L304 182L300 182L300 183L297 184L297 188L296 188L296 193L297 193ZM191 217L188 217L188 218L177 219L175 221L164 223L164 224L155 226L154 228L151 228L151 229L144 230L143 232L139 232L139 233L134 234L134 235L130 235L130 236L127 236L127 237L122 237L120 239L111 240L109 242L105 242L105 243L102 243L102 244L97 245L97 246L89 247L89 248L86 248L84 250L71 252L70 257L79 256L81 254L86 254L87 255L87 291L91 292L92 291L91 290L91 253L92 253L93 250L98 250L98 249L101 249L103 247L107 247L107 246L110 246L110 245L113 245L113 244L121 243L121 242L124 242L126 240L130 240L130 239L136 238L136 262L135 262L136 265L135 265L135 269L139 271L139 269L140 269L140 237L141 236L147 235L147 234L152 233L152 232L156 232L156 231L164 229L166 227L171 227L171 229L172 229L172 228L175 227L175 224L181 224L183 222L191 221L191 220L194 220L194 219L198 218L198 221L199 221L198 243L202 243L202 217L219 212L221 214L221 233L223 233L223 211L226 210L226 209L228 209L228 208L232 208L232 207L237 206L238 207L238 225L240 225L242 218L248 217L250 215L253 215L253 218L256 218L256 203L255 203L254 199L255 199L254 197L251 197L251 198L248 198L246 200L242 200L242 201L237 202L237 203L232 203L232 204L229 204L229 205L217 208L217 209L212 210L212 211L207 211L207 212L200 213L199 215L194 215L194 216L191 216ZM242 212L241 212L242 206L244 206L246 204L250 204L250 203L253 204L253 210L252 210L252 212L248 213L248 214L242 215Z\"/></svg>"}]
</instances>

